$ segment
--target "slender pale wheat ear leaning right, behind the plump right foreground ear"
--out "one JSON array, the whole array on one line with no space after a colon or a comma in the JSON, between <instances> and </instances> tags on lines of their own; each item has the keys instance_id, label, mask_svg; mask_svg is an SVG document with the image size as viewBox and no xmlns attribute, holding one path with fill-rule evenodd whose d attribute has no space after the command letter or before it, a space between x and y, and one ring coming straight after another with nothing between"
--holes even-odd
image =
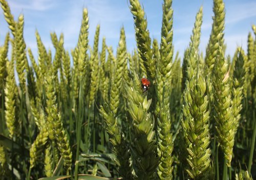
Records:
<instances>
[{"instance_id":1,"label":"slender pale wheat ear leaning right, behind the plump right foreground ear","mask_svg":"<svg viewBox=\"0 0 256 180\"><path fill-rule=\"evenodd\" d=\"M198 47L200 43L200 34L202 26L202 7L199 9L196 15L196 21L193 28L193 34L190 36L189 48L185 51L182 70L183 70L183 105L182 105L182 129L180 133L180 140L184 143L180 144L180 149L182 152L181 161L187 166L187 148L190 146L191 142L188 140L187 130L189 128L189 123L193 119L190 114L189 105L193 104L190 91L194 89L198 76Z\"/></svg>"}]
</instances>

